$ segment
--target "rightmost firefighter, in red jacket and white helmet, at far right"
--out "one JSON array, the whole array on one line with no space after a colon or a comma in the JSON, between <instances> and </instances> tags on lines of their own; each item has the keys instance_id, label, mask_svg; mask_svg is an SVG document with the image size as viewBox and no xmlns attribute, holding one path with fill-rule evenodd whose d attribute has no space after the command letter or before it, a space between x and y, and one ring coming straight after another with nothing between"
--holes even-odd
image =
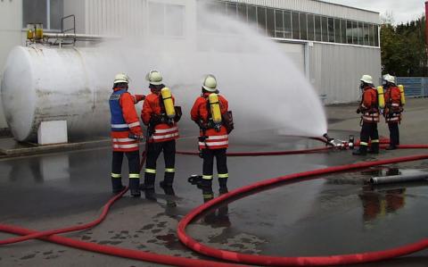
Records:
<instances>
[{"instance_id":1,"label":"rightmost firefighter, in red jacket and white helmet, at far right","mask_svg":"<svg viewBox=\"0 0 428 267\"><path fill-rule=\"evenodd\" d=\"M396 86L395 77L390 74L383 76L383 88L385 88L385 110L383 116L390 129L390 146L386 149L393 150L399 145L399 122L403 112L401 92Z\"/></svg>"}]
</instances>

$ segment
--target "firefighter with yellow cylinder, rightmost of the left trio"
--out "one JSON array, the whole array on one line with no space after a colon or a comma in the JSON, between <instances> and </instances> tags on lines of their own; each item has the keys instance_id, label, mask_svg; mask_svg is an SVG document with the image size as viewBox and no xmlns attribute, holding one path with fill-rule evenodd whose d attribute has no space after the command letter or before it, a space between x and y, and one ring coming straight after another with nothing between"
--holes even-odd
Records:
<instances>
[{"instance_id":1,"label":"firefighter with yellow cylinder, rightmost of the left trio","mask_svg":"<svg viewBox=\"0 0 428 267\"><path fill-rule=\"evenodd\" d=\"M219 113L224 117L227 113L228 103L224 96L218 95L217 79L208 75L202 86L202 95L199 96L193 104L191 111L192 121L200 127L199 147L202 151L202 192L204 195L212 195L212 179L214 157L217 161L218 184L220 194L227 192L227 171L226 149L228 147L228 132L223 120L220 124L215 123L211 105L216 103L210 102L210 96L218 98ZM217 99L216 98L216 99Z\"/></svg>"}]
</instances>

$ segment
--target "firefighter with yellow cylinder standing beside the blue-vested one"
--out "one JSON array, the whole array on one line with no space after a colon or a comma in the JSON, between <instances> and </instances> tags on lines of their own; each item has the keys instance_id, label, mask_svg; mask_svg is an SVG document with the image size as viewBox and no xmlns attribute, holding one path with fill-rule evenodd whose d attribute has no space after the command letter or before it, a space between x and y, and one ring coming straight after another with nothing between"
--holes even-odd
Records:
<instances>
[{"instance_id":1,"label":"firefighter with yellow cylinder standing beside the blue-vested one","mask_svg":"<svg viewBox=\"0 0 428 267\"><path fill-rule=\"evenodd\" d=\"M147 126L148 132L148 146L147 146L147 159L145 162L144 171L144 189L145 197L147 199L155 200L154 196L154 181L156 178L156 161L163 151L165 161L165 174L164 179L161 181L161 188L164 189L165 194L174 195L173 181L175 176L175 162L176 162L176 140L178 138L177 121L181 117L181 109L174 107L175 98L170 95L169 88L165 88L162 84L162 76L159 71L150 71L146 79L150 83L151 94L147 95L143 104L143 111L141 118ZM172 102L166 102L161 91L168 89L169 97ZM171 104L172 107L166 104ZM175 115L169 117L168 109L172 108Z\"/></svg>"}]
</instances>

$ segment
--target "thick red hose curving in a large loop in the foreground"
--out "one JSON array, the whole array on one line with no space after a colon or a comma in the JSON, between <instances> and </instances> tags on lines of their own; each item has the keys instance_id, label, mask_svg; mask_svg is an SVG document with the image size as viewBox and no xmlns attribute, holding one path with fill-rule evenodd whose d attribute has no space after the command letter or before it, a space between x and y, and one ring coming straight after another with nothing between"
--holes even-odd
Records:
<instances>
[{"instance_id":1,"label":"thick red hose curving in a large loop in the foreground","mask_svg":"<svg viewBox=\"0 0 428 267\"><path fill-rule=\"evenodd\" d=\"M415 146L418 147L418 146ZM421 146L424 148L424 146ZM325 169L319 169L315 171L305 171L300 173L294 173L286 175L283 177L278 177L275 179L268 179L260 181L250 186L238 188L234 191L231 191L225 195L218 196L206 204L195 208L192 212L185 215L177 227L177 235L185 246L193 249L200 254L205 254L211 257L218 259L236 262L236 263L248 263L248 264L257 264L265 266L331 266L331 265L342 265L342 264L355 264L355 263L369 263L382 261L386 259L391 259L394 257L399 257L405 254L412 254L417 251L428 248L428 238L424 238L416 243L409 244L407 246L400 246L397 248L392 248L389 250L361 253L361 254L343 254L343 255L333 255L333 256L318 256L318 257L279 257L279 256L265 256L265 255L254 255L254 254L241 254L226 250L220 250L210 246L205 246L193 238L189 237L185 228L193 221L193 219L201 213L206 212L211 207L225 202L227 199L231 199L236 196L242 196L248 192L251 192L260 188L267 188L276 183L289 181L292 179L302 179L308 177L314 177L317 175L330 174L338 171L350 171L355 169L362 169L373 167L383 164L392 164L392 163L404 163L410 161L424 160L428 159L428 154L421 154L415 156L399 157L388 160L376 161L376 162L366 162L366 163L355 163L342 166L329 167ZM315 178L314 178L315 179Z\"/></svg>"}]
</instances>

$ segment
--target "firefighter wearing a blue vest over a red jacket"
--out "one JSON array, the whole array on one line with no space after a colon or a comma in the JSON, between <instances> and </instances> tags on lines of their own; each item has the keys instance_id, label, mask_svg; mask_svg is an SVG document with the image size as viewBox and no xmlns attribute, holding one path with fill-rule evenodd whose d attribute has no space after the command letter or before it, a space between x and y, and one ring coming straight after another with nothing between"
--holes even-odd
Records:
<instances>
[{"instance_id":1,"label":"firefighter wearing a blue vest over a red jacket","mask_svg":"<svg viewBox=\"0 0 428 267\"><path fill-rule=\"evenodd\" d=\"M144 100L143 95L132 96L128 93L128 75L119 73L113 84L113 93L109 104L111 111L111 141L113 156L111 162L111 185L113 193L124 189L122 185L123 154L128 158L129 190L131 196L141 196L140 185L140 154L138 141L143 138L143 131L136 114L135 104Z\"/></svg>"}]
</instances>

